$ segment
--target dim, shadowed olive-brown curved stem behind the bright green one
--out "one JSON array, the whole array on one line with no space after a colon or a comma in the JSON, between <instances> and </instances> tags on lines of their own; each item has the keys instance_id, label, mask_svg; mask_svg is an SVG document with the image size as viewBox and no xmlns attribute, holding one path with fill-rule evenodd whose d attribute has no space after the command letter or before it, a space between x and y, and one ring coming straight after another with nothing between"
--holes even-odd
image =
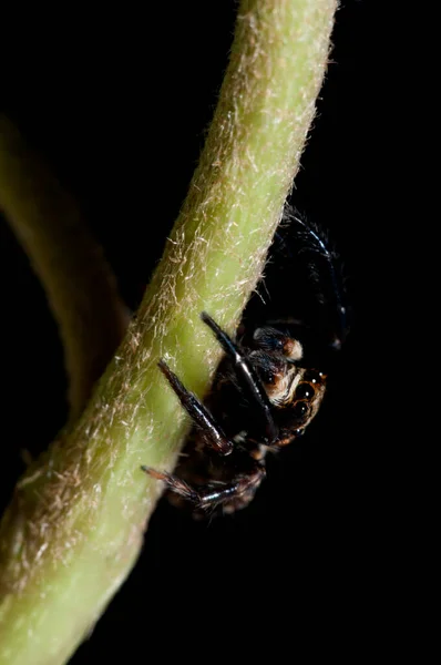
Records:
<instances>
[{"instance_id":1,"label":"dim, shadowed olive-brown curved stem behind the bright green one","mask_svg":"<svg viewBox=\"0 0 441 665\"><path fill-rule=\"evenodd\" d=\"M73 422L121 342L129 316L74 201L1 115L0 208L40 277L59 324Z\"/></svg>"}]
</instances>

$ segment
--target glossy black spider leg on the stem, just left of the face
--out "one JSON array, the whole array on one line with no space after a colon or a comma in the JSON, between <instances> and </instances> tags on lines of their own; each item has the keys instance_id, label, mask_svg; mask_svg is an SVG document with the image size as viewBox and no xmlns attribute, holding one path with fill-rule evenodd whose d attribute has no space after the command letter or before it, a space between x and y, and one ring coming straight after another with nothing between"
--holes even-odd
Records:
<instances>
[{"instance_id":1,"label":"glossy black spider leg on the stem, just left of the face","mask_svg":"<svg viewBox=\"0 0 441 665\"><path fill-rule=\"evenodd\" d=\"M239 347L226 332L224 332L224 330L212 319L208 314L203 311L201 318L204 324L206 324L208 328L213 330L222 348L234 364L236 375L242 383L242 387L246 390L253 402L258 407L259 412L264 418L267 440L269 440L269 442L274 441L277 438L278 429L273 419L268 396L253 365L243 354Z\"/></svg>"}]
</instances>

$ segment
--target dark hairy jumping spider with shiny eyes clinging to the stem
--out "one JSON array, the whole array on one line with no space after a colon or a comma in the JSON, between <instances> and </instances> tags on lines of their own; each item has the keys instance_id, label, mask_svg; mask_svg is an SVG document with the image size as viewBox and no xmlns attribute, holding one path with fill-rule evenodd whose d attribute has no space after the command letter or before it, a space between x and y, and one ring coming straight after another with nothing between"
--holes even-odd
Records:
<instances>
[{"instance_id":1,"label":"dark hairy jumping spider with shiny eyes clinging to the stem","mask_svg":"<svg viewBox=\"0 0 441 665\"><path fill-rule=\"evenodd\" d=\"M176 474L150 467L142 470L163 481L170 501L191 508L195 518L232 513L249 504L266 475L267 453L301 437L316 417L327 383L327 371L317 362L328 351L339 350L347 335L337 255L315 225L289 209L284 218L288 224L283 223L276 234L285 254L284 268L279 269L278 260L271 265L273 275L269 270L265 279L268 303L252 298L237 340L207 313L201 315L225 352L206 399L198 400L164 360L158 362L194 427ZM291 260L293 243L297 262ZM289 285L288 279L296 277L294 263L300 270L307 268L311 288L306 290L318 305L309 311L309 325L290 315L286 289L277 297L280 284ZM305 352L308 346L320 351Z\"/></svg>"}]
</instances>

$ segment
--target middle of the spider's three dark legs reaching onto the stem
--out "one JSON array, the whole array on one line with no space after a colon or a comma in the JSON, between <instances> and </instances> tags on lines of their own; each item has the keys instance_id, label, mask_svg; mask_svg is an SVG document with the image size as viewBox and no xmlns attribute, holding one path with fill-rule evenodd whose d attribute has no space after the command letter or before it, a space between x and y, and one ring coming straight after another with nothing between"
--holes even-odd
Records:
<instances>
[{"instance_id":1,"label":"middle of the spider's three dark legs reaching onto the stem","mask_svg":"<svg viewBox=\"0 0 441 665\"><path fill-rule=\"evenodd\" d=\"M208 409L193 395L193 392L189 392L185 388L164 360L160 360L158 367L177 395L184 409L203 431L206 443L219 454L227 456L233 452L233 441L227 439Z\"/></svg>"}]
</instances>

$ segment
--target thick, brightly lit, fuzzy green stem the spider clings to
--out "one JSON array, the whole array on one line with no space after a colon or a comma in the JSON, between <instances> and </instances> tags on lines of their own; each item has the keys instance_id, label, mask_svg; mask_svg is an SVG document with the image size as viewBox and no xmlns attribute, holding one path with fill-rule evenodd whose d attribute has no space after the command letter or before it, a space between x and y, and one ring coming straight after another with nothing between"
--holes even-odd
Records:
<instances>
[{"instance_id":1,"label":"thick, brightly lit, fuzzy green stem the spider clings to","mask_svg":"<svg viewBox=\"0 0 441 665\"><path fill-rule=\"evenodd\" d=\"M201 163L140 311L80 422L30 469L3 521L1 664L65 662L136 560L161 492L140 466L171 470L189 424L157 360L206 390L221 351L199 313L233 332L261 274L335 9L242 2Z\"/></svg>"}]
</instances>

